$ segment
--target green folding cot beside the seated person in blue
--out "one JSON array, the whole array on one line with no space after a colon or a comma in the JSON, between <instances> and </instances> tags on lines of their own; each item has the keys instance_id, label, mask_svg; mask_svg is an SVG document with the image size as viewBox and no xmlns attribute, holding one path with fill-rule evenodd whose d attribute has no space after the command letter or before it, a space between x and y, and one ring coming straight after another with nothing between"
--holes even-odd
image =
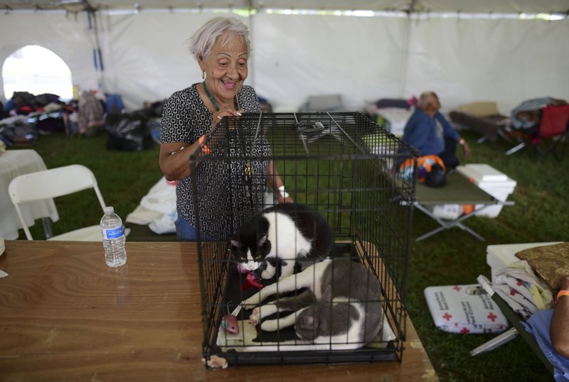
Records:
<instances>
[{"instance_id":1,"label":"green folding cot beside the seated person in blue","mask_svg":"<svg viewBox=\"0 0 569 382\"><path fill-rule=\"evenodd\" d=\"M471 228L465 226L462 222L482 211L482 209L486 209L494 205L513 205L514 202L501 202L500 200L497 200L484 190L481 190L473 182L470 182L470 180L461 173L455 172L447 175L447 182L442 187L429 187L418 182L415 189L414 204L416 208L425 212L425 214L432 217L432 219L435 219L435 221L441 226L419 236L415 239L416 241L421 241L422 239L426 239L429 236L452 227L459 227L460 229L467 231L469 234L472 234L472 236L477 239L484 241L482 236L477 234L477 232ZM457 219L444 220L433 214L432 209L430 208L440 204L472 204L476 207L474 207L472 212L463 214Z\"/></svg>"}]
</instances>

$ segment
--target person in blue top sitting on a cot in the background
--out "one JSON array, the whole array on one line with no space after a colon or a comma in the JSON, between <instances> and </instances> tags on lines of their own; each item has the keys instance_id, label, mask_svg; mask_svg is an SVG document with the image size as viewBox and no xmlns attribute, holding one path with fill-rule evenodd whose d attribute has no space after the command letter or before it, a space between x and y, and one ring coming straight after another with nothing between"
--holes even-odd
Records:
<instances>
[{"instance_id":1,"label":"person in blue top sitting on a cot in the background","mask_svg":"<svg viewBox=\"0 0 569 382\"><path fill-rule=\"evenodd\" d=\"M435 92L420 95L417 108L405 125L403 141L419 151L419 155L438 155L447 170L459 165L457 143L470 156L470 147L440 114L439 97Z\"/></svg>"}]
</instances>

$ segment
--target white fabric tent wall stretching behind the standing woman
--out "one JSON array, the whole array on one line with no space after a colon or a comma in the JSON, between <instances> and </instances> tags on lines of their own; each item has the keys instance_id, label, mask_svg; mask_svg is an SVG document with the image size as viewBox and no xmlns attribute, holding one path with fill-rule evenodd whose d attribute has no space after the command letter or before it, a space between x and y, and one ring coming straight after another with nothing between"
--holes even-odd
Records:
<instances>
[{"instance_id":1,"label":"white fabric tent wall stretching behind the standing woman","mask_svg":"<svg viewBox=\"0 0 569 382\"><path fill-rule=\"evenodd\" d=\"M420 2L430 3L436 1ZM85 12L1 14L0 64L24 45L41 45L68 63L73 82L81 89L121 94L127 109L139 109L145 101L164 99L201 81L187 40L208 18L224 13L96 14L102 72L93 65L95 33ZM443 111L464 102L491 100L508 114L529 98L569 100L567 18L260 12L243 21L252 31L248 83L280 110L297 110L309 95L317 94L341 94L346 107L361 110L365 102L411 97L427 89L440 94ZM1 93L0 100L11 97Z\"/></svg>"}]
</instances>

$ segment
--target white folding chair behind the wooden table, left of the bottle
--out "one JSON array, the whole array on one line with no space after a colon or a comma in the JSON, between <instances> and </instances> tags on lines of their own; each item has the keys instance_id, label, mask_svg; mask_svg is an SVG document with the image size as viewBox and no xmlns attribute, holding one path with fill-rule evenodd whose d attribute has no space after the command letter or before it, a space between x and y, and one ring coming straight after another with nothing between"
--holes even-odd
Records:
<instances>
[{"instance_id":1,"label":"white folding chair behind the wooden table, left of the bottle","mask_svg":"<svg viewBox=\"0 0 569 382\"><path fill-rule=\"evenodd\" d=\"M21 221L26 238L33 240L30 230L23 219L20 205L36 200L43 200L92 188L97 194L97 199L101 204L101 216L106 207L102 198L97 180L92 171L84 165L67 165L49 170L28 173L14 178L8 187L8 192L16 212ZM70 240L70 241L102 241L99 225L75 229L58 236L53 236L48 240Z\"/></svg>"}]
</instances>

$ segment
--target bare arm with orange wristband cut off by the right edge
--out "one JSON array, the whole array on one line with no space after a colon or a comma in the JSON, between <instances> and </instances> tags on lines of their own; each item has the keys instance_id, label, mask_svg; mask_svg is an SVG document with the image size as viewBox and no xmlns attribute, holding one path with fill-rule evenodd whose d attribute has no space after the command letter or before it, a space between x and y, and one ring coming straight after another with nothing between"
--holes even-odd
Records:
<instances>
[{"instance_id":1,"label":"bare arm with orange wristband cut off by the right edge","mask_svg":"<svg viewBox=\"0 0 569 382\"><path fill-rule=\"evenodd\" d=\"M550 336L553 349L569 359L569 275L559 281L560 293L551 317Z\"/></svg>"}]
</instances>

